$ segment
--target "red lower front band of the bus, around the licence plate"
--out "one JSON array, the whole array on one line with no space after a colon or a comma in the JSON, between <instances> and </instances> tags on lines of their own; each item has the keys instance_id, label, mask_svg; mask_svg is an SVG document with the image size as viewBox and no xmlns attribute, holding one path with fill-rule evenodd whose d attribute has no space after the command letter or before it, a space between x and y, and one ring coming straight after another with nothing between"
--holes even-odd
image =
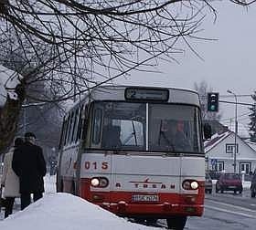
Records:
<instances>
[{"instance_id":1,"label":"red lower front band of the bus, around the licence plate","mask_svg":"<svg viewBox=\"0 0 256 230\"><path fill-rule=\"evenodd\" d=\"M201 216L204 210L204 187L199 183L198 193L145 193L145 192L91 192L90 179L80 181L80 197L114 214L185 214ZM158 202L134 202L133 194L158 194Z\"/></svg>"}]
</instances>

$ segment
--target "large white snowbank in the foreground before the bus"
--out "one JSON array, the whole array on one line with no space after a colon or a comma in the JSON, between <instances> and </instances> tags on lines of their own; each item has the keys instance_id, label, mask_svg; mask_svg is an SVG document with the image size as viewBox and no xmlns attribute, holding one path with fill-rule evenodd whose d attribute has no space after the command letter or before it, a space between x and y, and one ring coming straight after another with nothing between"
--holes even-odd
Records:
<instances>
[{"instance_id":1,"label":"large white snowbank in the foreground before the bus","mask_svg":"<svg viewBox=\"0 0 256 230\"><path fill-rule=\"evenodd\" d=\"M128 222L98 205L91 204L69 193L54 193L54 179L47 177L48 193L25 210L9 215L0 221L0 229L5 230L159 230Z\"/></svg>"}]
</instances>

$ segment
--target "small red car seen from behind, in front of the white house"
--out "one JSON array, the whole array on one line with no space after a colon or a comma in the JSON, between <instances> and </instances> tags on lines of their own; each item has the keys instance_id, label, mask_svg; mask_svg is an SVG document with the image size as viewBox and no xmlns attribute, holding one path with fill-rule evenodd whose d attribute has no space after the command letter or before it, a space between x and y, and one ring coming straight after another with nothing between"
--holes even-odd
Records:
<instances>
[{"instance_id":1,"label":"small red car seen from behind, in front of the white house","mask_svg":"<svg viewBox=\"0 0 256 230\"><path fill-rule=\"evenodd\" d=\"M242 183L238 173L222 173L216 183L216 193L224 191L233 191L242 193Z\"/></svg>"}]
</instances>

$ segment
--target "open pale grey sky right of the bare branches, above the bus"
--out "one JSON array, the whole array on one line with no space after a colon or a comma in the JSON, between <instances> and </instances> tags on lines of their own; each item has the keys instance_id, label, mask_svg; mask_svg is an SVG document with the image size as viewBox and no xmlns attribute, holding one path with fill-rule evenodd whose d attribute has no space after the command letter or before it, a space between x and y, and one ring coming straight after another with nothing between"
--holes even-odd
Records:
<instances>
[{"instance_id":1,"label":"open pale grey sky right of the bare branches, above the bus","mask_svg":"<svg viewBox=\"0 0 256 230\"><path fill-rule=\"evenodd\" d=\"M205 80L220 95L228 95L227 89L237 95L252 94L256 90L256 4L248 10L229 1L218 1L215 5L218 9L217 21L214 23L214 16L209 14L201 26L204 31L200 35L218 40L191 43L204 60L187 48L184 55L176 57L179 64L161 63L158 67L163 72L161 74L134 72L131 78L118 81L193 89L195 82ZM220 99L234 101L234 97ZM252 102L250 97L238 100ZM244 125L249 121L248 116L240 115L250 112L247 108L238 106L239 122ZM221 103L220 110L222 121L227 123L234 116L235 106Z\"/></svg>"}]
</instances>

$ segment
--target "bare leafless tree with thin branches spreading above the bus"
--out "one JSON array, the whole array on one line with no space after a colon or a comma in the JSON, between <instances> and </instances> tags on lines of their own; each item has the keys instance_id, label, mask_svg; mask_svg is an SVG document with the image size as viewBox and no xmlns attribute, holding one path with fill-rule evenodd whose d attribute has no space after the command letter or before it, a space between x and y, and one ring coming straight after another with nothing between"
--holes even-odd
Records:
<instances>
[{"instance_id":1,"label":"bare leafless tree with thin branches spreading above the bus","mask_svg":"<svg viewBox=\"0 0 256 230\"><path fill-rule=\"evenodd\" d=\"M254 1L229 0L238 5ZM212 0L2 0L1 46L13 40L27 60L18 71L16 112L26 97L27 84L43 81L54 100L79 96L84 91L128 74L146 71L159 58L172 61L182 45L191 46L204 17L216 15ZM27 69L29 71L27 71ZM34 98L35 99L35 98ZM52 101L47 95L37 100ZM16 131L16 118L8 106L0 109L0 152ZM12 123L12 129L6 124Z\"/></svg>"}]
</instances>

